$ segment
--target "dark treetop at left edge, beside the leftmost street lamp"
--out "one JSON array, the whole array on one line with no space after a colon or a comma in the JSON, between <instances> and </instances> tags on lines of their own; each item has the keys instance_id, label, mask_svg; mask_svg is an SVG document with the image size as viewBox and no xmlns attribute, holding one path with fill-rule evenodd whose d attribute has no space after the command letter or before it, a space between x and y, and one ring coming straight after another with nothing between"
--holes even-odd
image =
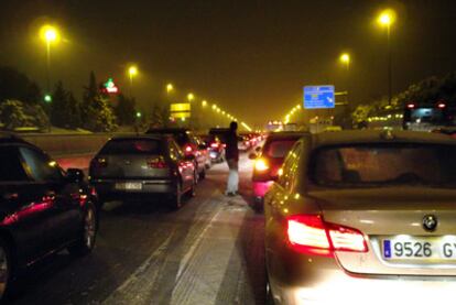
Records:
<instances>
[{"instance_id":1,"label":"dark treetop at left edge, beside the leftmost street lamp","mask_svg":"<svg viewBox=\"0 0 456 305\"><path fill-rule=\"evenodd\" d=\"M0 67L0 102L6 99L37 104L42 92L36 83L12 67Z\"/></svg>"}]
</instances>

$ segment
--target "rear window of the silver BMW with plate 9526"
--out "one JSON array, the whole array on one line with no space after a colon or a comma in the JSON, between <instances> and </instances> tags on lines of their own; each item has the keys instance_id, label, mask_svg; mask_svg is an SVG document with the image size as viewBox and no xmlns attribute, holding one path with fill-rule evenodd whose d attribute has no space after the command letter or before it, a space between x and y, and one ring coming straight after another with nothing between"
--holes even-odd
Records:
<instances>
[{"instance_id":1,"label":"rear window of the silver BMW with plate 9526","mask_svg":"<svg viewBox=\"0 0 456 305\"><path fill-rule=\"evenodd\" d=\"M319 149L312 179L326 186L456 186L456 145L365 144Z\"/></svg>"}]
</instances>

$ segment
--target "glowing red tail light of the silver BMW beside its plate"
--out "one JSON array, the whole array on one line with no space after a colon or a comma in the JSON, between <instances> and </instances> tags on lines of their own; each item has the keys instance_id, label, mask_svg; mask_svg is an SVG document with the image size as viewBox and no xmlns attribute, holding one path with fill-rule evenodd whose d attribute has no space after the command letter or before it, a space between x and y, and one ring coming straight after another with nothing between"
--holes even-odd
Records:
<instances>
[{"instance_id":1,"label":"glowing red tail light of the silver BMW beside its plate","mask_svg":"<svg viewBox=\"0 0 456 305\"><path fill-rule=\"evenodd\" d=\"M360 231L325 222L319 215L291 216L286 225L289 242L298 252L330 255L334 251L368 251Z\"/></svg>"}]
</instances>

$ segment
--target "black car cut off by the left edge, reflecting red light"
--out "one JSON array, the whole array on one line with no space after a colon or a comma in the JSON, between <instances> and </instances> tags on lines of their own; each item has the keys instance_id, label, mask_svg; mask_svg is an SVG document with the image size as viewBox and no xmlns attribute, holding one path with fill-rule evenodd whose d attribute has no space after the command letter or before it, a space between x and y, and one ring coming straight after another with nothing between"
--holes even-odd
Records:
<instances>
[{"instance_id":1,"label":"black car cut off by the left edge, reflecting red light","mask_svg":"<svg viewBox=\"0 0 456 305\"><path fill-rule=\"evenodd\" d=\"M77 168L63 171L37 146L0 134L0 298L32 263L95 246L97 196Z\"/></svg>"}]
</instances>

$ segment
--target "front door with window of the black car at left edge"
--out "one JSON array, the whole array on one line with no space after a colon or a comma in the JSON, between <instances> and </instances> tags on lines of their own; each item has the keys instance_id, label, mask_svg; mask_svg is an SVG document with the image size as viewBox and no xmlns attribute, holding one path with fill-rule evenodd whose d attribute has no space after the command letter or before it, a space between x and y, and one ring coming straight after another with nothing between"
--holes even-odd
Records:
<instances>
[{"instance_id":1,"label":"front door with window of the black car at left edge","mask_svg":"<svg viewBox=\"0 0 456 305\"><path fill-rule=\"evenodd\" d=\"M82 224L82 192L76 183L66 179L58 164L33 146L20 146L25 171L35 196L43 198L47 210L48 248L55 249L73 241ZM83 195L84 196L84 195Z\"/></svg>"}]
</instances>

